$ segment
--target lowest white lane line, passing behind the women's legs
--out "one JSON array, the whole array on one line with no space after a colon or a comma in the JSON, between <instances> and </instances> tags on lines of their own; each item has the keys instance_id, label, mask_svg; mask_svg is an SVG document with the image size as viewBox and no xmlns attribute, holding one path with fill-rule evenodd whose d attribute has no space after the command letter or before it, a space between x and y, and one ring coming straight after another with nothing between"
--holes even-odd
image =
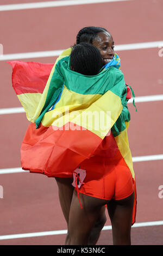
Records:
<instances>
[{"instance_id":1,"label":"lowest white lane line, passing behind the women's legs","mask_svg":"<svg viewBox=\"0 0 163 256\"><path fill-rule=\"evenodd\" d=\"M155 225L163 225L163 221L150 221L150 222L140 222L135 223L132 228L139 227L152 227ZM111 230L111 225L105 225L104 230ZM35 236L48 236L48 235L62 235L67 234L67 229L64 230L54 230L54 231L43 231L43 232L33 232L33 233L24 233L24 234L14 234L14 235L1 235L0 240L7 239L18 239L18 238L27 238L27 237L35 237Z\"/></svg>"}]
</instances>

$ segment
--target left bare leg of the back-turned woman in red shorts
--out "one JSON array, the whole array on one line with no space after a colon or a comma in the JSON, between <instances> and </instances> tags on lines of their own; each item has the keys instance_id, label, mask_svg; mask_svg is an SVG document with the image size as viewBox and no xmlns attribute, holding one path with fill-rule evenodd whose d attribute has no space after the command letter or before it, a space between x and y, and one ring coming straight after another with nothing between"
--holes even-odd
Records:
<instances>
[{"instance_id":1,"label":"left bare leg of the back-turned woman in red shorts","mask_svg":"<svg viewBox=\"0 0 163 256\"><path fill-rule=\"evenodd\" d=\"M79 197L80 202L82 203L82 209L80 208L77 192L74 190L68 221L68 234L70 235L71 240L70 244L95 245L95 243L89 242L92 241L90 235L93 233L92 230L96 227L96 222L100 219L101 214L104 214L105 216L104 208L102 209L102 207L108 203L108 201L86 196L82 193L79 194ZM103 224L100 229L96 227L96 241L98 240L105 220L101 223Z\"/></svg>"}]
</instances>

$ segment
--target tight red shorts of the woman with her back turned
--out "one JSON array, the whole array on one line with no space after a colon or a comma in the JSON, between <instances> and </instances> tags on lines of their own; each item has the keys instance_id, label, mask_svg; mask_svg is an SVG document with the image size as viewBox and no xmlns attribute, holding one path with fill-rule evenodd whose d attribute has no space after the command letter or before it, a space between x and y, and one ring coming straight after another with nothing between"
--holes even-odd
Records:
<instances>
[{"instance_id":1,"label":"tight red shorts of the woman with her back turned","mask_svg":"<svg viewBox=\"0 0 163 256\"><path fill-rule=\"evenodd\" d=\"M114 157L93 156L80 164L86 170L79 193L105 200L120 200L134 192L134 179L120 150Z\"/></svg>"}]
</instances>

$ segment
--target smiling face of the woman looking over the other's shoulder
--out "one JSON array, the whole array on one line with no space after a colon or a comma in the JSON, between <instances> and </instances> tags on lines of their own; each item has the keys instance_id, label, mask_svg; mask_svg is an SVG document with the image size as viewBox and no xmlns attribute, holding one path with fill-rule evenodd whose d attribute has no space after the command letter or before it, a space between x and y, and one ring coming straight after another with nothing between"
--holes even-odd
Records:
<instances>
[{"instance_id":1,"label":"smiling face of the woman looking over the other's shoulder","mask_svg":"<svg viewBox=\"0 0 163 256\"><path fill-rule=\"evenodd\" d=\"M109 32L100 32L92 44L101 52L103 65L107 64L114 58L114 41Z\"/></svg>"}]
</instances>

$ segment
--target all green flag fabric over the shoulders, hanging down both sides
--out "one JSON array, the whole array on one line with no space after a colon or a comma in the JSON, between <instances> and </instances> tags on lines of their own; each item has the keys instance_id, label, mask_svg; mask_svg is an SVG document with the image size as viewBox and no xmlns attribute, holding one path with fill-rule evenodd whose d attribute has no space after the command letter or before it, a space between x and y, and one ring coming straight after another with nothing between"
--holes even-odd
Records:
<instances>
[{"instance_id":1,"label":"all green flag fabric over the shoulders, hanging down both sides","mask_svg":"<svg viewBox=\"0 0 163 256\"><path fill-rule=\"evenodd\" d=\"M121 97L122 113L117 117L116 123L112 126L111 131L114 136L120 134L126 129L125 121L130 120L130 114L127 108L127 87L124 81L124 75L121 70L114 66L104 69L96 76L85 76L74 72L70 69L70 57L67 56L57 63L55 70L49 84L49 89L46 97L45 105L42 108L39 118L36 119L36 127L43 118L43 115L51 108L57 101L62 90L62 85L79 94L104 94L108 90ZM109 110L109 102L108 102Z\"/></svg>"}]
</instances>

